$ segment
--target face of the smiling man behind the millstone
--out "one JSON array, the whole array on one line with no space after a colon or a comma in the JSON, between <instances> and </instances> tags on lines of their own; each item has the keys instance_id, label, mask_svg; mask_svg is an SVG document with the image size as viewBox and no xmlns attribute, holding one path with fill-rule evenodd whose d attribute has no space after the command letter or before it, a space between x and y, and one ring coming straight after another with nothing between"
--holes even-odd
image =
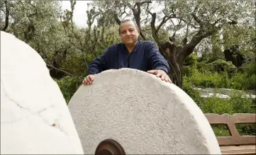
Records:
<instances>
[{"instance_id":1,"label":"face of the smiling man behind the millstone","mask_svg":"<svg viewBox=\"0 0 256 155\"><path fill-rule=\"evenodd\" d=\"M132 21L122 23L120 32L121 40L125 45L134 45L140 35Z\"/></svg>"}]
</instances>

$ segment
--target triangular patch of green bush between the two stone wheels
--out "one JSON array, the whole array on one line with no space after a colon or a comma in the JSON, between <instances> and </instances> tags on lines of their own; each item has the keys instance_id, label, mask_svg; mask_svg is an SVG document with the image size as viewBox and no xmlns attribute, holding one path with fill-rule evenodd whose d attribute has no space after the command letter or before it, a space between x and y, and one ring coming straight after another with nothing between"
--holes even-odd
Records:
<instances>
[{"instance_id":1,"label":"triangular patch of green bush between the two stone wheels","mask_svg":"<svg viewBox=\"0 0 256 155\"><path fill-rule=\"evenodd\" d=\"M83 76L65 76L62 79L55 79L67 104L79 86L81 86L83 78Z\"/></svg>"}]
</instances>

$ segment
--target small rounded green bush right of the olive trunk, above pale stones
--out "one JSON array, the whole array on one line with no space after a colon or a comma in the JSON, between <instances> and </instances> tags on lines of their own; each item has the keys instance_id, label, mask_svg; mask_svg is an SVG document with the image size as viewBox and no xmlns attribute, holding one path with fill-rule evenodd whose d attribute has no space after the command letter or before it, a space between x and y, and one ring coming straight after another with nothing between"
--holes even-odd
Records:
<instances>
[{"instance_id":1,"label":"small rounded green bush right of the olive trunk, above pale stones","mask_svg":"<svg viewBox=\"0 0 256 155\"><path fill-rule=\"evenodd\" d=\"M232 62L226 62L223 59L217 59L216 61L211 62L209 66L211 67L212 72L217 71L219 74L222 74L226 71L228 73L228 77L232 77L238 72L238 69L234 64L232 64Z\"/></svg>"}]
</instances>

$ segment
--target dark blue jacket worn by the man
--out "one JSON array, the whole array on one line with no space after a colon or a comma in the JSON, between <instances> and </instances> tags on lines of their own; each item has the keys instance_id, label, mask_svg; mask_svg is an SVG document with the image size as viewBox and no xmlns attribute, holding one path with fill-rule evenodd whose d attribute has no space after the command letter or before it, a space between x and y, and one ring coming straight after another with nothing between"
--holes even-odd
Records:
<instances>
[{"instance_id":1,"label":"dark blue jacket worn by the man","mask_svg":"<svg viewBox=\"0 0 256 155\"><path fill-rule=\"evenodd\" d=\"M167 74L169 73L169 64L160 54L155 42L138 40L130 54L123 43L108 47L101 57L91 62L89 74L98 74L107 69L121 68L138 69L141 71L162 69Z\"/></svg>"}]
</instances>

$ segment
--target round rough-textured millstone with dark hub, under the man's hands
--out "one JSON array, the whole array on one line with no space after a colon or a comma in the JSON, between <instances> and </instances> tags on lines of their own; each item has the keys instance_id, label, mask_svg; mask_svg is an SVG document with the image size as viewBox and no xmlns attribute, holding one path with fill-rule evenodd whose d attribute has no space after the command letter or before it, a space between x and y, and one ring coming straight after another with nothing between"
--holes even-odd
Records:
<instances>
[{"instance_id":1,"label":"round rough-textured millstone with dark hub, under the man's hands","mask_svg":"<svg viewBox=\"0 0 256 155\"><path fill-rule=\"evenodd\" d=\"M144 71L96 74L68 106L84 154L111 143L106 139L126 154L221 154L206 117L187 93Z\"/></svg>"}]
</instances>

